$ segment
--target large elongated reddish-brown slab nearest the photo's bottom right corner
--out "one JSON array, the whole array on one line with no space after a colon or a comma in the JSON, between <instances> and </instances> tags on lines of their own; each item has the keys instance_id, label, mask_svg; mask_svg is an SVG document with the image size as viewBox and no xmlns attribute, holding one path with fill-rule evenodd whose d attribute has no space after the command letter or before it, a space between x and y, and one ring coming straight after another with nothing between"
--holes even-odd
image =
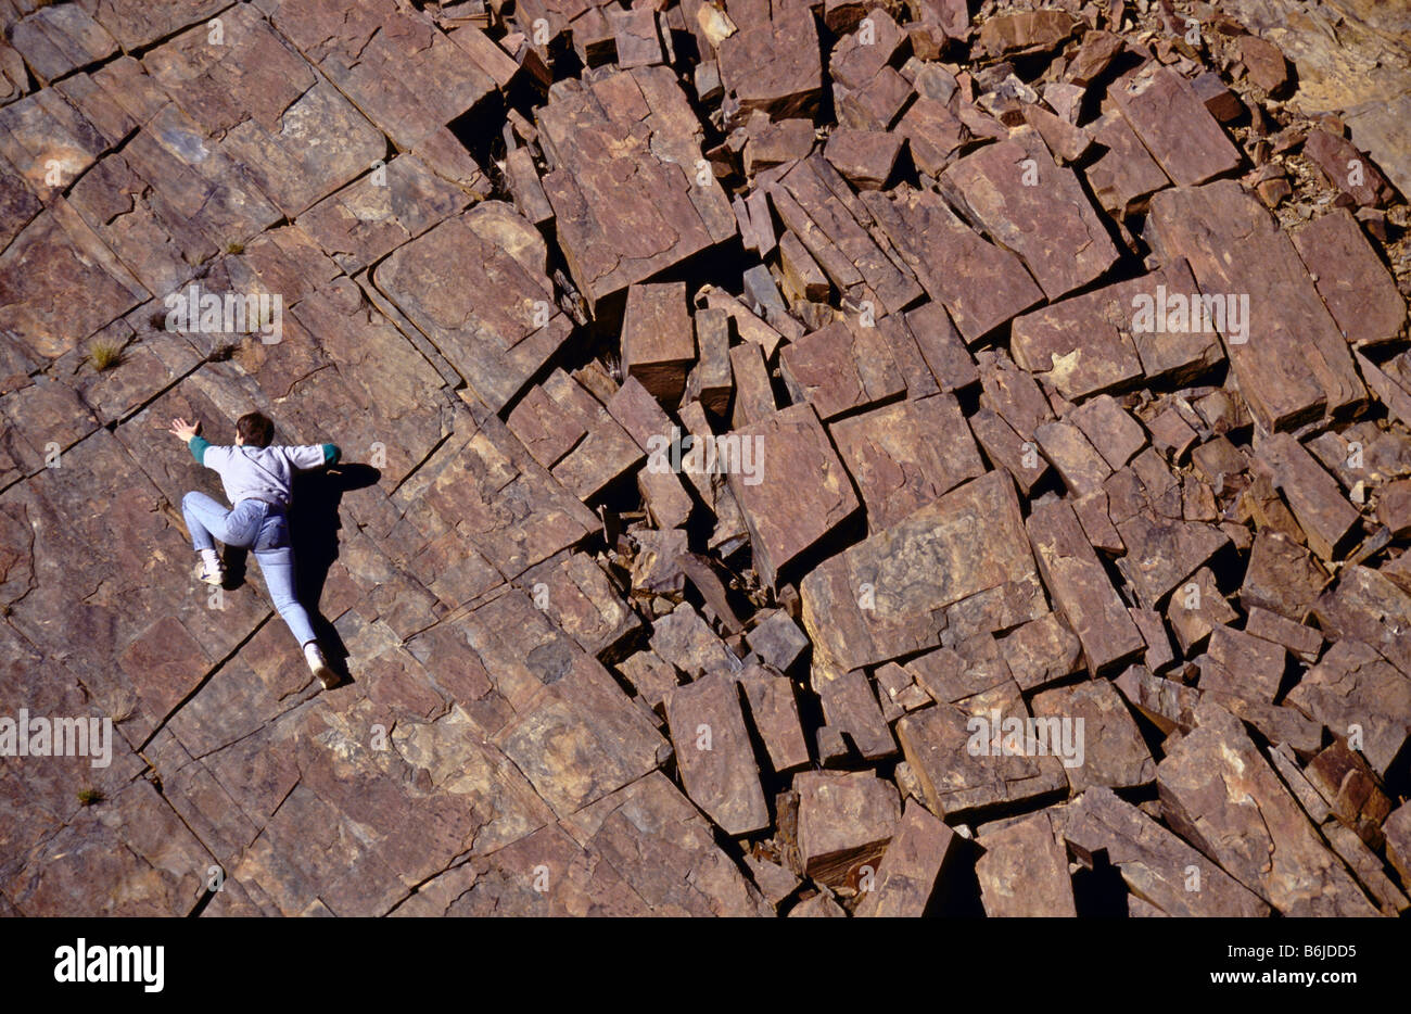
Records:
<instances>
[{"instance_id":1,"label":"large elongated reddish-brown slab nearest the photo's bottom right corner","mask_svg":"<svg viewBox=\"0 0 1411 1014\"><path fill-rule=\"evenodd\" d=\"M1202 703L1157 765L1168 823L1284 915L1376 915L1239 719Z\"/></svg>"}]
</instances>

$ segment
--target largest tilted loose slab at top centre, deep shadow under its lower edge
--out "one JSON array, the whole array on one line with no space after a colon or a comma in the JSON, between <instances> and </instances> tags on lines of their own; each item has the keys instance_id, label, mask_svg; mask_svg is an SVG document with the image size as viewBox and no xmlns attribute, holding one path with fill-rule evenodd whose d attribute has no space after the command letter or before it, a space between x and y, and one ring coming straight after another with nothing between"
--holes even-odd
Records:
<instances>
[{"instance_id":1,"label":"largest tilted loose slab at top centre, deep shadow under its lower edge","mask_svg":"<svg viewBox=\"0 0 1411 1014\"><path fill-rule=\"evenodd\" d=\"M697 168L701 126L670 69L559 92L539 110L539 131L559 244L594 312L737 233L725 192Z\"/></svg>"}]
</instances>

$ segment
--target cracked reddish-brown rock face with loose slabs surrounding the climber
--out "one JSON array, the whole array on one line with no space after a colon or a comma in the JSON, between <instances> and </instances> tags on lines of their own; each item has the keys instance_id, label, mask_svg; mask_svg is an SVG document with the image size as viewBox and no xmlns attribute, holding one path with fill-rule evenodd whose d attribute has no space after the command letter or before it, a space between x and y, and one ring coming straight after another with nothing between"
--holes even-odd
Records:
<instances>
[{"instance_id":1,"label":"cracked reddish-brown rock face with loose slabs surrounding the climber","mask_svg":"<svg viewBox=\"0 0 1411 1014\"><path fill-rule=\"evenodd\" d=\"M1411 20L998 7L0 0L0 914L1411 908Z\"/></svg>"}]
</instances>

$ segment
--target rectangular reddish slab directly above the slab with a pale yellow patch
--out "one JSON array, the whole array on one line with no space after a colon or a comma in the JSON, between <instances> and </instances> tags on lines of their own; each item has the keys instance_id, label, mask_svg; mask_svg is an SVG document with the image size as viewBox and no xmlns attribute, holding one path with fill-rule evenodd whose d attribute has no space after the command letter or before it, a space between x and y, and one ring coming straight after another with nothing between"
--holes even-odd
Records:
<instances>
[{"instance_id":1,"label":"rectangular reddish slab directly above the slab with a pale yellow patch","mask_svg":"<svg viewBox=\"0 0 1411 1014\"><path fill-rule=\"evenodd\" d=\"M967 155L941 174L941 189L1024 258L1050 299L1089 284L1118 260L1072 169L1054 164L1037 131L1015 131Z\"/></svg>"}]
</instances>

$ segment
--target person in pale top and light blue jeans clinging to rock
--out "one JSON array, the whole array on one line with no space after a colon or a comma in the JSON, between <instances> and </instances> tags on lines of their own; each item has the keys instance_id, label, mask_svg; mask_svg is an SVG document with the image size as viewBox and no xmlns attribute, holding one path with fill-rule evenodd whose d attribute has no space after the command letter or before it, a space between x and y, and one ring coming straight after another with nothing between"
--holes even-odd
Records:
<instances>
[{"instance_id":1,"label":"person in pale top and light blue jeans clinging to rock","mask_svg":"<svg viewBox=\"0 0 1411 1014\"><path fill-rule=\"evenodd\" d=\"M227 547L250 549L260 563L270 597L279 616L303 647L303 658L325 689L337 685L339 676L329 667L293 586L293 547L289 542L288 510L292 479L299 469L334 465L339 449L333 443L271 446L274 421L261 412L247 412L236 419L234 446L213 446L199 436L200 424L172 419L172 436L186 441L198 465L214 469L226 489L231 508L205 493L182 497L182 514L192 545L200 555L199 578L207 585L224 582L226 568L216 555L214 539Z\"/></svg>"}]
</instances>

